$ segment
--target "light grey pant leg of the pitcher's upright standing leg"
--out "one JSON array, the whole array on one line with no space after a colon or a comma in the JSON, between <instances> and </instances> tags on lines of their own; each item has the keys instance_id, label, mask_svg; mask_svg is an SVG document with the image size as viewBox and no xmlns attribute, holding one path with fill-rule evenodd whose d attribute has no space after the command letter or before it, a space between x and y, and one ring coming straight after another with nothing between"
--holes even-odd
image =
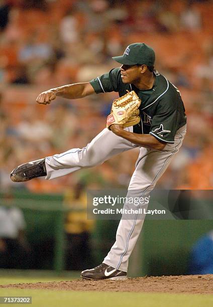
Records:
<instances>
[{"instance_id":1,"label":"light grey pant leg of the pitcher's upright standing leg","mask_svg":"<svg viewBox=\"0 0 213 307\"><path fill-rule=\"evenodd\" d=\"M167 144L164 150L141 148L136 170L128 188L128 196L132 193L144 198L154 189L157 181L178 152L185 133L185 127L180 128L175 135L175 143ZM124 207L128 208L128 205L125 204ZM147 209L147 207L148 205L138 206L137 209ZM140 219L137 219L137 214L128 220L122 217L116 234L116 242L103 263L127 272L129 257L141 232L144 218L140 216Z\"/></svg>"}]
</instances>

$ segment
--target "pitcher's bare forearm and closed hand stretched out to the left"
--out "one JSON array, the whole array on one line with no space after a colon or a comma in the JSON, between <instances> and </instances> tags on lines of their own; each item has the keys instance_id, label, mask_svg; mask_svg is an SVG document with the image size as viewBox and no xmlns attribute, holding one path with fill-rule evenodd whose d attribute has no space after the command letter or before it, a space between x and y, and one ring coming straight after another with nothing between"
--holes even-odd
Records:
<instances>
[{"instance_id":1,"label":"pitcher's bare forearm and closed hand stretched out to the left","mask_svg":"<svg viewBox=\"0 0 213 307\"><path fill-rule=\"evenodd\" d=\"M49 104L56 96L68 99L82 98L95 93L89 82L68 84L56 88L51 88L48 91L38 95L36 101L42 104Z\"/></svg>"}]
</instances>

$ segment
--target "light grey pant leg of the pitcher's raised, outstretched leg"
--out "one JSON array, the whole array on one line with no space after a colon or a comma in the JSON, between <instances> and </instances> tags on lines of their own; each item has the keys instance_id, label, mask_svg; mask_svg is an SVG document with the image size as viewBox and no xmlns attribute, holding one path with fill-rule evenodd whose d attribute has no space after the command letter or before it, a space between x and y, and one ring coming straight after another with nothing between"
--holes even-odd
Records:
<instances>
[{"instance_id":1,"label":"light grey pant leg of the pitcher's raised, outstretched leg","mask_svg":"<svg viewBox=\"0 0 213 307\"><path fill-rule=\"evenodd\" d=\"M132 129L133 127L128 127L125 130L132 132ZM105 128L86 147L72 148L62 154L47 157L46 179L65 176L82 168L94 167L120 152L135 147L137 145Z\"/></svg>"}]
</instances>

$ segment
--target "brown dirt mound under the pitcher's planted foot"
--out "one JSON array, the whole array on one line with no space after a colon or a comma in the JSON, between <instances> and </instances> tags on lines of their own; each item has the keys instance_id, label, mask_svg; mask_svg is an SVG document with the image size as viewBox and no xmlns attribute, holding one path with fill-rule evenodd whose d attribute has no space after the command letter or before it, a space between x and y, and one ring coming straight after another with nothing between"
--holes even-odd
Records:
<instances>
[{"instance_id":1,"label":"brown dirt mound under the pitcher's planted foot","mask_svg":"<svg viewBox=\"0 0 213 307\"><path fill-rule=\"evenodd\" d=\"M213 293L213 274L150 276L116 280L72 280L0 285L1 288L50 289L75 291Z\"/></svg>"}]
</instances>

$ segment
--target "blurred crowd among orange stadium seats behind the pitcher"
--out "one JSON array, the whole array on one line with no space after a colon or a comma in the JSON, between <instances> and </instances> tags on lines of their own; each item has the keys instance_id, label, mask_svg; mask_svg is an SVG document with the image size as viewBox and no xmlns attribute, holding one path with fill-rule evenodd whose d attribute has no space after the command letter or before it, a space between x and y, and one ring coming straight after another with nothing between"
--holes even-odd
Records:
<instances>
[{"instance_id":1,"label":"blurred crowd among orange stadium seats behind the pitcher","mask_svg":"<svg viewBox=\"0 0 213 307\"><path fill-rule=\"evenodd\" d=\"M90 81L134 42L156 51L156 69L181 92L184 144L158 187L213 187L211 1L5 0L0 2L0 184L36 192L127 187L138 149L53 181L10 181L19 164L87 144L105 126L117 93L38 105L40 92Z\"/></svg>"}]
</instances>

